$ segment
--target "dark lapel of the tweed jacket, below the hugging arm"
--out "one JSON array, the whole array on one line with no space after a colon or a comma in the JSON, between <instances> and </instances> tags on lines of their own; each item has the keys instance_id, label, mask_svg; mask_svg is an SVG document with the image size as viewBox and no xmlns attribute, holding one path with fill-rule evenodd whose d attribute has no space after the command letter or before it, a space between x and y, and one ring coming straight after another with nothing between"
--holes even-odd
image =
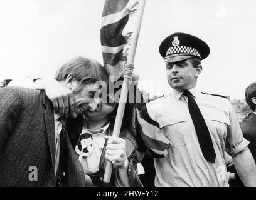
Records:
<instances>
[{"instance_id":1,"label":"dark lapel of the tweed jacket, below the hugging arm","mask_svg":"<svg viewBox=\"0 0 256 200\"><path fill-rule=\"evenodd\" d=\"M53 106L50 100L46 97L45 92L43 92L43 104L45 106L45 127L48 145L50 149L51 155L51 163L53 166L53 171L55 171L55 123L54 123L54 115L53 115Z\"/></svg>"}]
</instances>

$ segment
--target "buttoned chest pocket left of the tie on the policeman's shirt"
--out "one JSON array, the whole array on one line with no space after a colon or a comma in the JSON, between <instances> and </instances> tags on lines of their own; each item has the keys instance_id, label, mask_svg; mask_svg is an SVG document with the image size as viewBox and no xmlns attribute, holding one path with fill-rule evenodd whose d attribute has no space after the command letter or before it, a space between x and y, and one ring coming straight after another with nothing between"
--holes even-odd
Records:
<instances>
[{"instance_id":1,"label":"buttoned chest pocket left of the tie on the policeman's shirt","mask_svg":"<svg viewBox=\"0 0 256 200\"><path fill-rule=\"evenodd\" d=\"M162 117L159 120L159 128L163 130L164 136L169 139L171 147L190 144L192 141L186 116L174 114Z\"/></svg>"}]
</instances>

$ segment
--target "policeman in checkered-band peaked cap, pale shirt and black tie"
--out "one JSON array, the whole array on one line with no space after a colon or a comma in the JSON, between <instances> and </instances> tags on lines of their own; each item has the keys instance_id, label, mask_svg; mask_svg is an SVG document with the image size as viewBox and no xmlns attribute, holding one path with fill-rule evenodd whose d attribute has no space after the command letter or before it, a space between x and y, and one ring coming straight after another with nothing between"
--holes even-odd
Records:
<instances>
[{"instance_id":1,"label":"policeman in checkered-band peaked cap, pale shirt and black tie","mask_svg":"<svg viewBox=\"0 0 256 200\"><path fill-rule=\"evenodd\" d=\"M256 187L256 166L227 98L200 93L196 81L208 45L181 32L159 47L171 93L140 111L142 139L155 155L156 187L228 187L225 151L245 186Z\"/></svg>"}]
</instances>

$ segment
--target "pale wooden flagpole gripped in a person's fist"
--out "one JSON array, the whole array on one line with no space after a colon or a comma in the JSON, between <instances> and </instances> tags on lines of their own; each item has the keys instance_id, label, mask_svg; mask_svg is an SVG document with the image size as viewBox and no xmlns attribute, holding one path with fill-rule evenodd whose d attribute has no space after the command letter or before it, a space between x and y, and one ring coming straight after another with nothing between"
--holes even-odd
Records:
<instances>
[{"instance_id":1,"label":"pale wooden flagpole gripped in a person's fist","mask_svg":"<svg viewBox=\"0 0 256 200\"><path fill-rule=\"evenodd\" d=\"M119 137L120 134L120 129L122 126L122 119L124 116L124 108L125 108L125 103L127 100L127 94L128 94L128 89L129 89L129 81L132 79L132 71L133 71L133 63L134 63L134 58L135 58L135 53L136 53L136 47L137 47L137 42L139 39L139 31L141 29L141 22L142 22L142 17L143 17L143 12L145 8L145 3L146 0L140 0L139 1L139 8L137 11L137 21L136 21L136 27L133 32L133 39L131 42L131 49L129 52L129 55L127 56L127 68L124 70L124 81L122 83L122 89L120 93L120 99L119 99L119 105L117 108L117 115L115 118L115 124L114 124L114 131L112 136ZM105 168L105 174L104 174L104 183L109 183L110 178L111 178L111 173L112 173L112 163L110 161L107 161L106 168ZM122 176L120 176L122 179ZM129 187L129 183L126 183L127 186Z\"/></svg>"}]
</instances>

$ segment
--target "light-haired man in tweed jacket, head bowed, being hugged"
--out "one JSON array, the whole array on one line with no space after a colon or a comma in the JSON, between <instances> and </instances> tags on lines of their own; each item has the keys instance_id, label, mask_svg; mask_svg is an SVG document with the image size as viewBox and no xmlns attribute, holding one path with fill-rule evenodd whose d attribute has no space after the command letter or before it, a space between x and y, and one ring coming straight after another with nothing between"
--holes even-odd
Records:
<instances>
[{"instance_id":1,"label":"light-haired man in tweed jacket, head bowed, being hugged","mask_svg":"<svg viewBox=\"0 0 256 200\"><path fill-rule=\"evenodd\" d=\"M64 78L60 83L74 93L73 118L97 106L91 96L96 90L94 83L107 81L107 73L97 61L76 58L58 73ZM19 87L0 89L0 187L56 186L55 128L55 112L45 92ZM66 135L66 186L85 187L82 166Z\"/></svg>"}]
</instances>

